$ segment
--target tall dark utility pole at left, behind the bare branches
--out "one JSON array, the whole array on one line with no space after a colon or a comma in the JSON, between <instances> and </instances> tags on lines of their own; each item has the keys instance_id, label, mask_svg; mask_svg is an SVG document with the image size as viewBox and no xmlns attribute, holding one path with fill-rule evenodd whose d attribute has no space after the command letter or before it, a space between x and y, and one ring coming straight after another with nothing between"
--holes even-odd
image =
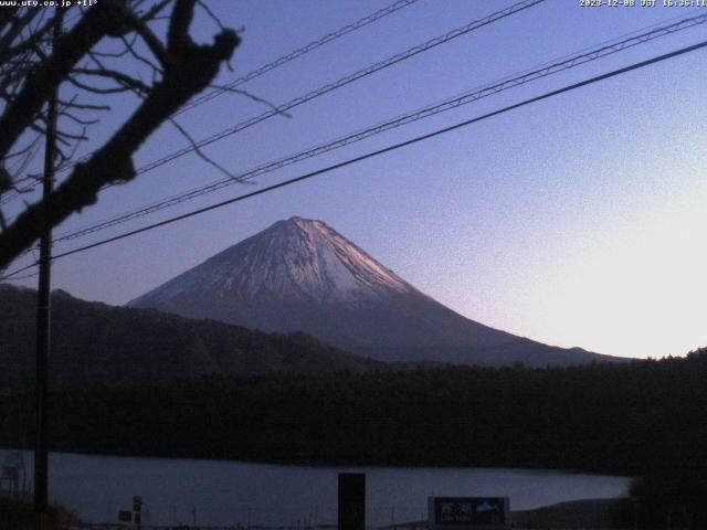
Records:
<instances>
[{"instance_id":1,"label":"tall dark utility pole at left, behind the bare branches","mask_svg":"<svg viewBox=\"0 0 707 530\"><path fill-rule=\"evenodd\" d=\"M56 8L52 52L62 31L62 12ZM44 147L44 179L42 200L50 203L54 183L54 160L56 158L56 98L54 89L46 102L46 137ZM50 209L48 208L48 211ZM40 277L36 300L36 380L34 386L34 413L36 439L34 445L34 511L35 529L49 530L48 517L48 433L46 393L49 380L50 316L51 316L51 259L52 224L49 215L44 219L44 231L40 237Z\"/></svg>"}]
</instances>

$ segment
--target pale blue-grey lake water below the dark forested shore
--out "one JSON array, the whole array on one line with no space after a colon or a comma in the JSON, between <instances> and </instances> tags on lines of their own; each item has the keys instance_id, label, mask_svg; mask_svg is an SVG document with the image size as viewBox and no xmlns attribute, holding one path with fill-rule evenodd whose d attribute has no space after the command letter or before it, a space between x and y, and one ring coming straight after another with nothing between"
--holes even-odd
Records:
<instances>
[{"instance_id":1,"label":"pale blue-grey lake water below the dark forested shore","mask_svg":"<svg viewBox=\"0 0 707 530\"><path fill-rule=\"evenodd\" d=\"M0 451L0 462L4 452ZM426 517L426 498L503 496L514 510L626 495L629 478L496 468L304 467L224 460L50 454L50 498L117 522L134 495L152 524L304 526L336 521L337 474L366 473L367 523ZM31 453L25 454L28 468Z\"/></svg>"}]
</instances>

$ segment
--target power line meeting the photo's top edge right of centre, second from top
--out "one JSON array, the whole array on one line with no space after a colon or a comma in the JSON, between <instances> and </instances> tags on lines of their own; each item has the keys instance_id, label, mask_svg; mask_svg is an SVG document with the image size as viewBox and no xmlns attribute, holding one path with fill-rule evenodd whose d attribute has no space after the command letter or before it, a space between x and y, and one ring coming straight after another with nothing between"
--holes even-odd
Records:
<instances>
[{"instance_id":1,"label":"power line meeting the photo's top edge right of centre, second from top","mask_svg":"<svg viewBox=\"0 0 707 530\"><path fill-rule=\"evenodd\" d=\"M506 8L504 10L500 11L496 11L483 19L478 19L475 20L473 22L469 22L468 24L465 24L461 28L456 28L455 30L449 31L447 33L436 36L434 39L431 39L422 44L418 44L416 46L413 46L409 50L405 50L404 52L398 53L395 55L392 55L383 61L379 61L378 63L368 66L366 68L359 70L352 74L349 74L345 77L341 77L335 82L328 83L324 86L320 86L319 88L316 88L312 92L308 92L307 94L304 94L302 96L298 96L294 99L291 99L287 103L284 103L282 105L278 105L274 108L271 108L268 110L266 110L265 113L262 113L257 116L253 116L244 121L241 121L236 125L233 125L226 129L223 129L220 132L217 132L214 135L211 135L202 140L199 140L197 142L194 142L191 146L188 147L183 147L177 151L173 151L169 155L166 155L162 158L159 158L157 160L154 160L140 168L138 168L136 170L136 174L143 174L146 173L148 171L151 171L160 166L163 166L165 163L171 162L172 160L176 160L178 158L183 157L184 155L188 155L190 152L193 152L198 149L201 149L203 147L207 147L215 141L222 140L223 138L226 138L229 136L232 136L236 132L240 132L249 127L252 127L256 124L260 124L261 121L264 121L266 119L272 118L273 116L277 116L284 113L287 113L288 110L292 110L295 107L298 107L299 105L303 105L307 102L310 102L313 99L316 99L317 97L324 96L325 94L328 94L333 91L336 91L338 88L341 88L342 86L349 85L360 78L367 77L369 75L374 74L376 72L379 72L381 70L388 68L390 66L393 66L394 64L398 64L402 61L405 61L410 57L413 57L420 53L426 52L428 50L431 50L433 47L436 47L441 44L444 44L446 42L450 42L454 39L457 39L462 35L465 35L467 33L471 33L472 31L475 31L479 28L483 28L485 25L492 24L496 21L503 20L506 17L510 17L511 14L518 13L523 10L526 10L528 8L531 8L534 6L537 6L538 3L542 3L546 0L524 0L521 2L515 3L513 6L510 6L509 8ZM75 162L77 163L77 162ZM75 163L71 165L71 166L65 166L62 169L66 169L70 167L75 166ZM104 187L105 188L110 188L114 184L107 184Z\"/></svg>"}]
</instances>

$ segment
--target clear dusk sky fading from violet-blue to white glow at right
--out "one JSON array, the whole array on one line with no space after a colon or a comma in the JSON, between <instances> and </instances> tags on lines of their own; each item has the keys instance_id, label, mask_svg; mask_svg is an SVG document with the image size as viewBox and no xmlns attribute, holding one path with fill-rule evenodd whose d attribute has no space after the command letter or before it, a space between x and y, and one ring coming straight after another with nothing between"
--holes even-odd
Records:
<instances>
[{"instance_id":1,"label":"clear dusk sky fading from violet-blue to white glow at right","mask_svg":"<svg viewBox=\"0 0 707 530\"><path fill-rule=\"evenodd\" d=\"M210 2L243 42L228 83L392 0ZM419 0L242 86L282 104L513 1ZM233 172L707 8L547 0L276 116L204 151ZM57 244L64 252L479 116L705 39L707 24L484 98L160 213ZM200 12L192 33L218 32ZM137 67L137 66L136 66ZM293 215L318 219L442 304L485 325L624 357L707 346L707 51L505 113L188 221L59 259L53 287L120 305ZM97 145L135 102L92 128ZM225 94L177 119L201 139L267 110ZM148 163L186 145L163 126ZM81 152L87 152L86 146ZM182 157L106 190L55 233L223 176ZM17 268L30 258L18 259ZM36 278L22 282L35 286Z\"/></svg>"}]
</instances>

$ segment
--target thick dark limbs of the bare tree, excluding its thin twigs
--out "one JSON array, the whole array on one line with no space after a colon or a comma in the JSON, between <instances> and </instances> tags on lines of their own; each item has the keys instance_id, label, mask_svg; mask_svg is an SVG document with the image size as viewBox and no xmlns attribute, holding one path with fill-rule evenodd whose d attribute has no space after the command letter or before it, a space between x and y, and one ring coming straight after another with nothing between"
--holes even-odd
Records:
<instances>
[{"instance_id":1,"label":"thick dark limbs of the bare tree, excluding its thin twigs","mask_svg":"<svg viewBox=\"0 0 707 530\"><path fill-rule=\"evenodd\" d=\"M0 269L7 267L12 259L29 248L49 223L56 225L68 215L96 202L99 190L107 183L126 182L135 178L133 155L143 142L193 95L211 84L221 64L226 62L240 43L239 35L232 30L218 33L210 45L199 45L189 35L189 26L193 19L197 0L175 0L175 8L167 32L167 45L162 46L160 61L163 73L161 78L146 92L146 85L136 83L135 78L123 78L122 75L108 77L130 86L136 92L146 92L141 104L135 113L118 128L103 147L96 150L85 162L76 165L71 174L61 182L48 202L36 202L19 214L6 230L0 233ZM101 10L89 9L70 33L57 43L52 55L39 65L22 86L7 112L0 117L0 159L14 144L22 130L39 127L35 116L42 118L40 109L49 95L48 87L57 86L72 75L76 63L87 55L104 35L125 39L129 31L136 31L150 51L154 45L147 42L154 35L151 30L145 32L145 22L130 14L124 2L119 0L102 0ZM99 13L99 14L95 14ZM91 22L91 23L89 23ZM80 42L81 41L81 42ZM76 47L72 49L71 46ZM160 44L161 45L161 44ZM102 72L102 75L105 72ZM30 102L30 95L35 99ZM28 106L22 106L23 102ZM103 106L78 104L74 99L62 102L67 108L85 109ZM40 127L41 128L41 127ZM68 135L67 132L64 132ZM72 135L78 138L78 135ZM84 137L82 134L81 137ZM2 169L2 168L0 168ZM7 171L2 169L4 173ZM7 174L1 186L7 186ZM1 188L0 188L1 189ZM51 203L51 209L49 204Z\"/></svg>"}]
</instances>

